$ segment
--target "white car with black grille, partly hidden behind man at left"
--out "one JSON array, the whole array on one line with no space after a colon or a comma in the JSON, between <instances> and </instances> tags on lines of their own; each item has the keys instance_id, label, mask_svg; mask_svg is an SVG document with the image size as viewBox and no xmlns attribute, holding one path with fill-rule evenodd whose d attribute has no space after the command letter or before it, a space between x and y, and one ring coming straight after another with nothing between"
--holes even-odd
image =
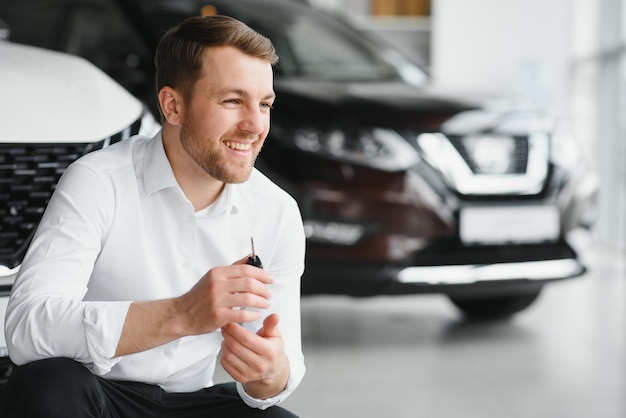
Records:
<instances>
[{"instance_id":1,"label":"white car with black grille, partly hidden behind man at left","mask_svg":"<svg viewBox=\"0 0 626 418\"><path fill-rule=\"evenodd\" d=\"M39 219L67 166L160 128L134 96L83 58L0 40L0 320ZM0 327L0 384L12 370Z\"/></svg>"}]
</instances>

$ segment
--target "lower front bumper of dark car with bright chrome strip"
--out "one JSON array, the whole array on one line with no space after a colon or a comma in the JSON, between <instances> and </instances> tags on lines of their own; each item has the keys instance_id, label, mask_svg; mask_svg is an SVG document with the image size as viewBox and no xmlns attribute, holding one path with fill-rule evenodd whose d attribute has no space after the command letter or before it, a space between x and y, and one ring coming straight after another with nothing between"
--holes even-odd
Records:
<instances>
[{"instance_id":1,"label":"lower front bumper of dark car with bright chrome strip","mask_svg":"<svg viewBox=\"0 0 626 418\"><path fill-rule=\"evenodd\" d=\"M583 261L565 241L552 245L463 247L439 243L404 264L307 260L302 294L451 296L535 291L580 276Z\"/></svg>"}]
</instances>

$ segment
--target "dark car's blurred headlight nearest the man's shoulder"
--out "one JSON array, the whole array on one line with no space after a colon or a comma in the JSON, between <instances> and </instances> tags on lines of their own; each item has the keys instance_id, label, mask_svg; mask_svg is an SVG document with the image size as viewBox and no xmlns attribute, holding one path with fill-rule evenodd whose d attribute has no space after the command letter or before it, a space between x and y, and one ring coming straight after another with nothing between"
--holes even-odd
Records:
<instances>
[{"instance_id":1,"label":"dark car's blurred headlight nearest the man's shoulder","mask_svg":"<svg viewBox=\"0 0 626 418\"><path fill-rule=\"evenodd\" d=\"M417 151L391 129L272 127L272 130L286 145L299 151L379 170L406 170L419 161Z\"/></svg>"}]
</instances>

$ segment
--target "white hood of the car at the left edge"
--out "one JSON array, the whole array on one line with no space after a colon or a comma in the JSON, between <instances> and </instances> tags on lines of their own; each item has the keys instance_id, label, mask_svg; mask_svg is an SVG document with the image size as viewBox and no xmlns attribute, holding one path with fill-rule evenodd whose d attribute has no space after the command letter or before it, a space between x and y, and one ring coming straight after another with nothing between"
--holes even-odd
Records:
<instances>
[{"instance_id":1,"label":"white hood of the car at the left edge","mask_svg":"<svg viewBox=\"0 0 626 418\"><path fill-rule=\"evenodd\" d=\"M8 41L0 56L0 142L93 142L141 117L141 102L83 58Z\"/></svg>"}]
</instances>

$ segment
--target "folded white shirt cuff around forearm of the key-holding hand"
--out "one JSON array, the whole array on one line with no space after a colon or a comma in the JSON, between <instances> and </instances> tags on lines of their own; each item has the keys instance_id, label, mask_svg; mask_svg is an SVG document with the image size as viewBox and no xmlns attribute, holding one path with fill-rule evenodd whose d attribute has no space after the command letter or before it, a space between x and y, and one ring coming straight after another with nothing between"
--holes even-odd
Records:
<instances>
[{"instance_id":1,"label":"folded white shirt cuff around forearm of the key-holding hand","mask_svg":"<svg viewBox=\"0 0 626 418\"><path fill-rule=\"evenodd\" d=\"M131 302L90 302L83 324L92 373L104 375L121 357L114 358Z\"/></svg>"}]
</instances>

